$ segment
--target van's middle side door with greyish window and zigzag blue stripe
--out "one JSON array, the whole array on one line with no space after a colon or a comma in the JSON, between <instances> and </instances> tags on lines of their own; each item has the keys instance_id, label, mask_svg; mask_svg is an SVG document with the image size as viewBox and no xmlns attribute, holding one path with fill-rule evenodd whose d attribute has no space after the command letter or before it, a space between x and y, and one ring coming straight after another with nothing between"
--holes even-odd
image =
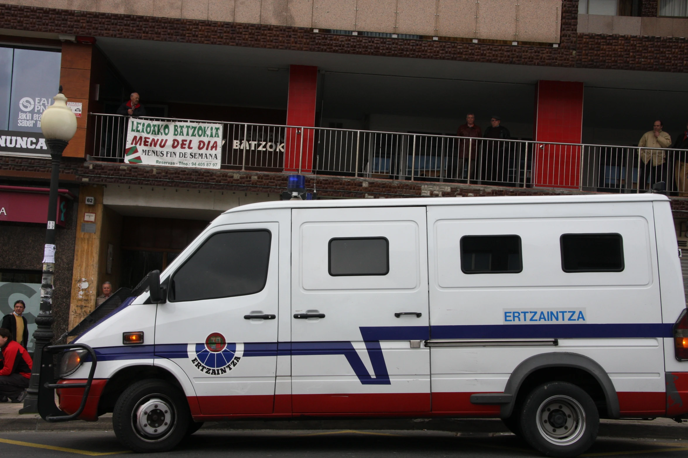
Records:
<instances>
[{"instance_id":1,"label":"van's middle side door with greyish window and zigzag blue stripe","mask_svg":"<svg viewBox=\"0 0 688 458\"><path fill-rule=\"evenodd\" d=\"M295 413L430 411L425 214L292 210Z\"/></svg>"}]
</instances>

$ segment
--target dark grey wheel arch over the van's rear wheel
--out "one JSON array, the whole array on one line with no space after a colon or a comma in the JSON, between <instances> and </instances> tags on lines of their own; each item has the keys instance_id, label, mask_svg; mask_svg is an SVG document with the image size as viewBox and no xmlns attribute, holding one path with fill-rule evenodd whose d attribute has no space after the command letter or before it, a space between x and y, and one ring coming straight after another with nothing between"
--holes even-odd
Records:
<instances>
[{"instance_id":1,"label":"dark grey wheel arch over the van's rear wheel","mask_svg":"<svg viewBox=\"0 0 688 458\"><path fill-rule=\"evenodd\" d=\"M556 373L555 373L556 372ZM572 380L573 379L573 380ZM572 382L588 391L598 404L601 416L619 418L619 398L607 372L588 356L570 352L552 352L530 356L511 373L504 393L512 395L512 401L502 404L499 417L508 418L528 391L543 382Z\"/></svg>"}]
</instances>

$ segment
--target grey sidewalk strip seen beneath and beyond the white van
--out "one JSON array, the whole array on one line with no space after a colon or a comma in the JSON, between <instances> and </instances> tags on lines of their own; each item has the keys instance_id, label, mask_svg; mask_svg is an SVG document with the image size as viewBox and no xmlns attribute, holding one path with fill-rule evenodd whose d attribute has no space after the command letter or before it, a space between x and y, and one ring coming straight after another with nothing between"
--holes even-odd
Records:
<instances>
[{"instance_id":1,"label":"grey sidewalk strip seen beneath and beyond the white van","mask_svg":"<svg viewBox=\"0 0 688 458\"><path fill-rule=\"evenodd\" d=\"M38 414L19 414L23 404L0 403L0 433L5 431L109 431L112 414L101 416L97 422L48 423ZM375 429L429 430L455 433L507 433L500 420L493 418L415 418L415 419L352 419L352 420L237 420L206 422L204 429ZM676 423L669 418L655 420L601 420L600 437L634 437L650 439L688 439L688 422Z\"/></svg>"}]
</instances>

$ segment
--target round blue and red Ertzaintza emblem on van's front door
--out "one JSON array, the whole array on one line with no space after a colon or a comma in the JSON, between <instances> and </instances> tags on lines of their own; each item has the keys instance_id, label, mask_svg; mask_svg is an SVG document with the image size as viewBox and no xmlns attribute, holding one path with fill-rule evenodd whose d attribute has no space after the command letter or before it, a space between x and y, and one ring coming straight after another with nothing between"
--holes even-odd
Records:
<instances>
[{"instance_id":1,"label":"round blue and red Ertzaintza emblem on van's front door","mask_svg":"<svg viewBox=\"0 0 688 458\"><path fill-rule=\"evenodd\" d=\"M196 369L206 375L221 376L237 367L244 344L228 343L222 334L213 332L204 343L190 343L187 350Z\"/></svg>"}]
</instances>

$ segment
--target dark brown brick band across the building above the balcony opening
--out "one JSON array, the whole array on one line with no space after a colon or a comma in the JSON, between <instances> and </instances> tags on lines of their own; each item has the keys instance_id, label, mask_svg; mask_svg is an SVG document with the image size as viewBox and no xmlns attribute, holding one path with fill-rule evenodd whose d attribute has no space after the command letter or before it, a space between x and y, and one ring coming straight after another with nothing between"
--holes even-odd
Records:
<instances>
[{"instance_id":1,"label":"dark brown brick band across the building above the balcony opening","mask_svg":"<svg viewBox=\"0 0 688 458\"><path fill-rule=\"evenodd\" d=\"M310 29L301 27L131 16L7 4L0 4L0 28L369 56L555 67L686 71L682 56L688 54L688 39L578 34L577 14L578 1L564 0L561 43L558 48L314 34Z\"/></svg>"}]
</instances>

